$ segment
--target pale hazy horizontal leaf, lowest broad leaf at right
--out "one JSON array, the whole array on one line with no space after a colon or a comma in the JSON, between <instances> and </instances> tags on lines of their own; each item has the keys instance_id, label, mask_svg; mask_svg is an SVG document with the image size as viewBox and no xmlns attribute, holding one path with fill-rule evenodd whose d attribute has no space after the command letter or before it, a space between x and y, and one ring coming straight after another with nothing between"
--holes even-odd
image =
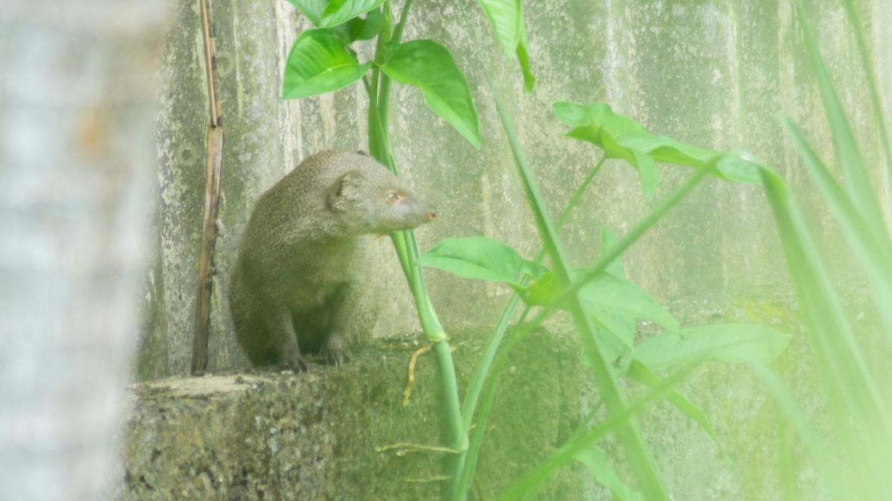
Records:
<instances>
[{"instance_id":1,"label":"pale hazy horizontal leaf, lowest broad leaf at right","mask_svg":"<svg viewBox=\"0 0 892 501\"><path fill-rule=\"evenodd\" d=\"M703 357L767 364L787 348L789 334L760 324L714 324L681 329L640 343L633 357L652 369Z\"/></svg>"}]
</instances>

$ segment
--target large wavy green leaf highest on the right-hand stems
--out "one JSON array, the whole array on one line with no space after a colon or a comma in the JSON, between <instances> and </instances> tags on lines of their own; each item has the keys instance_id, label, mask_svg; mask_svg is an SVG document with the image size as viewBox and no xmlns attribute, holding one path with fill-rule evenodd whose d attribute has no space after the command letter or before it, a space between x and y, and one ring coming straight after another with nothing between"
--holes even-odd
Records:
<instances>
[{"instance_id":1,"label":"large wavy green leaf highest on the right-hand stems","mask_svg":"<svg viewBox=\"0 0 892 501\"><path fill-rule=\"evenodd\" d=\"M608 158L623 159L638 169L644 192L657 187L655 161L706 168L715 163L719 175L731 181L758 184L760 165L735 152L716 152L682 144L665 136L653 136L634 120L615 113L606 103L589 106L558 102L558 119L573 127L567 136L595 144Z\"/></svg>"}]
</instances>

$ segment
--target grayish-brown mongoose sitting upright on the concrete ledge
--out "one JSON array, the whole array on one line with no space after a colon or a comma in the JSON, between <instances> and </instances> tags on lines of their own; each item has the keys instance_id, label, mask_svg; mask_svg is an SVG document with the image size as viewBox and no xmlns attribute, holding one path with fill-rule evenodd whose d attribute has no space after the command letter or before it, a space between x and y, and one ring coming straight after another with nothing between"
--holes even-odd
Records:
<instances>
[{"instance_id":1,"label":"grayish-brown mongoose sitting upright on the concrete ledge","mask_svg":"<svg viewBox=\"0 0 892 501\"><path fill-rule=\"evenodd\" d=\"M433 207L365 153L301 162L260 196L239 245L229 309L252 365L306 370L308 353L346 360L368 238L433 218Z\"/></svg>"}]
</instances>

